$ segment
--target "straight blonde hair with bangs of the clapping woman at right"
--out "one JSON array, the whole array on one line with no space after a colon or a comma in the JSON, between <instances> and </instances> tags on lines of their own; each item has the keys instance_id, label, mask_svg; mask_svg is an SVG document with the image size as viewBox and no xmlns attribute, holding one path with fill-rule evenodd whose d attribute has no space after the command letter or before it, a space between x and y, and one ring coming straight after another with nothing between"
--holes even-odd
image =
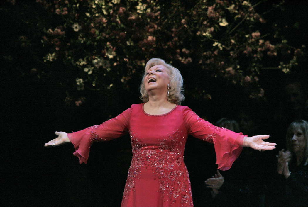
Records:
<instances>
[{"instance_id":1,"label":"straight blonde hair with bangs of the clapping woman at right","mask_svg":"<svg viewBox=\"0 0 308 207\"><path fill-rule=\"evenodd\" d=\"M286 144L287 144L287 150L292 152L292 154L293 154L292 137L295 129L299 129L300 131L302 131L304 135L306 144L305 144L305 152L304 152L305 154L303 159L306 161L308 157L308 122L306 120L296 120L289 125L286 135L287 139Z\"/></svg>"}]
</instances>

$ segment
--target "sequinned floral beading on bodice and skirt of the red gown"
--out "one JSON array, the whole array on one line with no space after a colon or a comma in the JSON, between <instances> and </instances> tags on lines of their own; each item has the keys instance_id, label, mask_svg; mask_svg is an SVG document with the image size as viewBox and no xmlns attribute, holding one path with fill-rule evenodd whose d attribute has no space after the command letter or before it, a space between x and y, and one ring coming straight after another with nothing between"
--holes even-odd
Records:
<instances>
[{"instance_id":1,"label":"sequinned floral beading on bodice and skirt of the red gown","mask_svg":"<svg viewBox=\"0 0 308 207\"><path fill-rule=\"evenodd\" d=\"M183 162L185 133L177 129L158 139L152 146L142 144L137 134L130 129L132 143L132 163L124 188L122 204L124 205L131 191L135 191L134 183L139 179L140 169L151 170L152 179L158 183L157 192L161 198L177 206L193 206L192 192L187 169ZM185 205L186 206L186 205Z\"/></svg>"}]
</instances>

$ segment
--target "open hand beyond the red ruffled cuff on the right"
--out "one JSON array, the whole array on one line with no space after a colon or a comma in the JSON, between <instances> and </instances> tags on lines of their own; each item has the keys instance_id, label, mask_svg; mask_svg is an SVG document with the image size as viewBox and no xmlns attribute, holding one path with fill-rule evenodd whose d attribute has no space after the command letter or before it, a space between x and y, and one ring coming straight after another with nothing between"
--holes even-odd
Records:
<instances>
[{"instance_id":1,"label":"open hand beyond the red ruffled cuff on the right","mask_svg":"<svg viewBox=\"0 0 308 207\"><path fill-rule=\"evenodd\" d=\"M268 139L270 135L257 135L252 137L244 137L243 146L250 147L255 150L265 151L275 149L276 143L265 142L263 140Z\"/></svg>"}]
</instances>

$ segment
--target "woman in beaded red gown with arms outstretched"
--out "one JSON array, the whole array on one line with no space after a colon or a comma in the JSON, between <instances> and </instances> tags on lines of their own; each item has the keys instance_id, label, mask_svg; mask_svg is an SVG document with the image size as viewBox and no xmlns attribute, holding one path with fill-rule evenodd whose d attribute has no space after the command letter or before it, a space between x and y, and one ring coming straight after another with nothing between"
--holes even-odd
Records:
<instances>
[{"instance_id":1,"label":"woman in beaded red gown with arms outstretched","mask_svg":"<svg viewBox=\"0 0 308 207\"><path fill-rule=\"evenodd\" d=\"M275 143L265 136L247 137L213 126L186 106L180 71L164 60L153 58L145 67L140 86L143 104L133 104L103 124L58 137L45 146L72 143L74 155L87 163L91 144L108 141L126 133L132 143L132 163L121 206L193 206L191 185L183 162L188 134L214 144L218 168L228 170L242 147L264 151Z\"/></svg>"}]
</instances>

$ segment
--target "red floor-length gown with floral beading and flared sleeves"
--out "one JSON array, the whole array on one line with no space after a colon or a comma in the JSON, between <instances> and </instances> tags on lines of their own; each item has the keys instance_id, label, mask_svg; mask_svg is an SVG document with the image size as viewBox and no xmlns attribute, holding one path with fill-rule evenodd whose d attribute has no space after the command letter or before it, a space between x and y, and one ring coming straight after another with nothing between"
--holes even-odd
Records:
<instances>
[{"instance_id":1,"label":"red floor-length gown with floral beading and flared sleeves","mask_svg":"<svg viewBox=\"0 0 308 207\"><path fill-rule=\"evenodd\" d=\"M87 163L91 144L130 134L132 162L121 206L193 206L191 185L183 162L188 134L214 144L218 168L228 170L242 150L243 135L201 119L177 105L162 115L133 104L103 124L68 134L74 155Z\"/></svg>"}]
</instances>

